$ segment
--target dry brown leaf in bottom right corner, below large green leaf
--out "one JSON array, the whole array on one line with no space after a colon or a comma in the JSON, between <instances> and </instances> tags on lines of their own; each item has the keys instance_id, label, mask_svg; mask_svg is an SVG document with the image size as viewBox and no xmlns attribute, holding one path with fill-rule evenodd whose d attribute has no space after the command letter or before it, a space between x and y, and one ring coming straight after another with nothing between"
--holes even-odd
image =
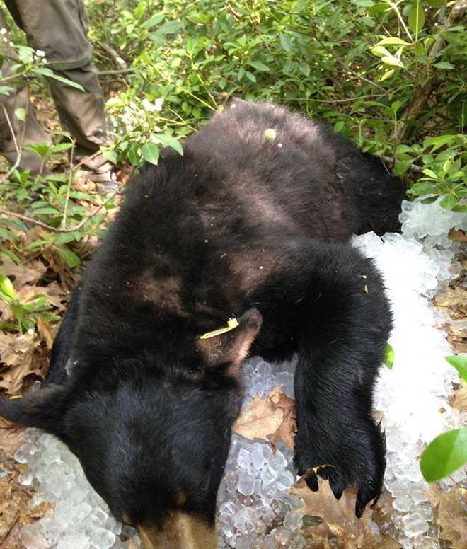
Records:
<instances>
[{"instance_id":1,"label":"dry brown leaf in bottom right corner, below large green leaf","mask_svg":"<svg viewBox=\"0 0 467 549\"><path fill-rule=\"evenodd\" d=\"M467 547L467 490L454 486L444 492L438 484L431 484L427 497L434 506L434 520L441 526L439 538L450 542L451 549Z\"/></svg>"}]
</instances>

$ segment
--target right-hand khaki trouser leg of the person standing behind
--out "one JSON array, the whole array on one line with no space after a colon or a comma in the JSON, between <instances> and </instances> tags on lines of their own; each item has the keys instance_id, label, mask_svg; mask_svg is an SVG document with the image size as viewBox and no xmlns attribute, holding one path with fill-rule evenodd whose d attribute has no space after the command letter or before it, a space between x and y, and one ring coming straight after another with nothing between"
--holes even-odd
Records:
<instances>
[{"instance_id":1,"label":"right-hand khaki trouser leg of the person standing behind","mask_svg":"<svg viewBox=\"0 0 467 549\"><path fill-rule=\"evenodd\" d=\"M109 144L104 100L91 62L88 19L82 0L7 0L15 4L31 47L45 52L47 67L81 84L84 92L50 79L50 89L62 125L86 156ZM103 162L103 158L100 160Z\"/></svg>"}]
</instances>

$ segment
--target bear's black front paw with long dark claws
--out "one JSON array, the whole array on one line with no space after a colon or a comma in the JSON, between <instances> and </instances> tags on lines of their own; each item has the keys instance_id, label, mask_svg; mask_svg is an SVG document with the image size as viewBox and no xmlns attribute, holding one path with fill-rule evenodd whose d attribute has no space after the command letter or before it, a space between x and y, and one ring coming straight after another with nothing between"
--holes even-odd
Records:
<instances>
[{"instance_id":1,"label":"bear's black front paw with long dark claws","mask_svg":"<svg viewBox=\"0 0 467 549\"><path fill-rule=\"evenodd\" d=\"M350 425L352 427L350 427ZM308 487L318 490L318 479L329 480L336 499L345 488L356 486L355 514L360 518L367 504L376 503L386 467L384 434L373 420L345 423L345 429L300 428L295 438L295 466L306 476Z\"/></svg>"}]
</instances>

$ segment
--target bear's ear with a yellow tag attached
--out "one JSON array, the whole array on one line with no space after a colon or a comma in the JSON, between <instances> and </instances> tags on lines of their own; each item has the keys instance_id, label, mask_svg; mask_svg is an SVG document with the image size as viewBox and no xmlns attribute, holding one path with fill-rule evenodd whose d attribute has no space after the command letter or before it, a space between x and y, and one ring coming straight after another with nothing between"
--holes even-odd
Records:
<instances>
[{"instance_id":1,"label":"bear's ear with a yellow tag attached","mask_svg":"<svg viewBox=\"0 0 467 549\"><path fill-rule=\"evenodd\" d=\"M236 375L238 366L248 356L250 345L261 328L263 318L257 309L249 309L240 318L236 328L216 330L217 335L206 334L198 340L197 347L208 367L226 365L229 374Z\"/></svg>"}]
</instances>

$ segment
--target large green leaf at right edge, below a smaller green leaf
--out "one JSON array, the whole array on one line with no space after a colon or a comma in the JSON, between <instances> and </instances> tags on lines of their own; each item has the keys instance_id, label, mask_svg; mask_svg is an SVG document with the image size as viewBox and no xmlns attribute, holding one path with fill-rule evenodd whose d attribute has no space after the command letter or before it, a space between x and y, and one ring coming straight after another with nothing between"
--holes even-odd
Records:
<instances>
[{"instance_id":1,"label":"large green leaf at right edge, below a smaller green leaf","mask_svg":"<svg viewBox=\"0 0 467 549\"><path fill-rule=\"evenodd\" d=\"M451 475L467 461L467 428L440 434L422 453L420 470L428 482Z\"/></svg>"}]
</instances>

